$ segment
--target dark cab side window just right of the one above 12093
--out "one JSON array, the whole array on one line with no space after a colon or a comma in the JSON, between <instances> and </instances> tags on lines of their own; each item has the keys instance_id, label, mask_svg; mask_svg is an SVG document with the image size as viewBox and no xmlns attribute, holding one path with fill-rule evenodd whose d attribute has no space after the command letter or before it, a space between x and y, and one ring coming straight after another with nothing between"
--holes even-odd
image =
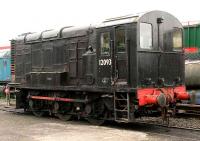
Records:
<instances>
[{"instance_id":1,"label":"dark cab side window just right of the one above 12093","mask_svg":"<svg viewBox=\"0 0 200 141\"><path fill-rule=\"evenodd\" d=\"M116 47L117 52L125 52L125 30L116 29Z\"/></svg>"}]
</instances>

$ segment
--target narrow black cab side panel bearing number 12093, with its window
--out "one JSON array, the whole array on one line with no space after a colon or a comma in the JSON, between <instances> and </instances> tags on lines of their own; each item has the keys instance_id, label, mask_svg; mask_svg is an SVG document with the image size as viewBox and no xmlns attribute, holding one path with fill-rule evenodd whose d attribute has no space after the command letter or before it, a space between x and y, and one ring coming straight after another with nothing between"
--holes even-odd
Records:
<instances>
[{"instance_id":1,"label":"narrow black cab side panel bearing number 12093, with its window","mask_svg":"<svg viewBox=\"0 0 200 141\"><path fill-rule=\"evenodd\" d=\"M97 29L97 84L110 87L113 81L112 69L114 49L114 30L112 27Z\"/></svg>"}]
</instances>

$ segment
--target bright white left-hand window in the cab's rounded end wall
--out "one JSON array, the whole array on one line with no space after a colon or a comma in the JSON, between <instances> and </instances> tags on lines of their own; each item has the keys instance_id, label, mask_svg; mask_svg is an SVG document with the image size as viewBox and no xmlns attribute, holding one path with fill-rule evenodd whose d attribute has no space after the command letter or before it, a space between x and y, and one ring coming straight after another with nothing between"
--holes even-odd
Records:
<instances>
[{"instance_id":1,"label":"bright white left-hand window in the cab's rounded end wall","mask_svg":"<svg viewBox=\"0 0 200 141\"><path fill-rule=\"evenodd\" d=\"M142 49L152 49L152 25L140 23L140 47Z\"/></svg>"}]
</instances>

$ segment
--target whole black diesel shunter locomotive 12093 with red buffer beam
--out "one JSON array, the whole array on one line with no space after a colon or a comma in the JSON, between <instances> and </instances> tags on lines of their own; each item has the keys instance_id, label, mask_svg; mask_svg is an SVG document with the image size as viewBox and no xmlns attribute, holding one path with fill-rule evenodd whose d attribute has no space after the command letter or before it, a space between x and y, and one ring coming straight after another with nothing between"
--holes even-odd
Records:
<instances>
[{"instance_id":1,"label":"whole black diesel shunter locomotive 12093 with red buffer beam","mask_svg":"<svg viewBox=\"0 0 200 141\"><path fill-rule=\"evenodd\" d=\"M17 108L36 116L133 122L164 115L188 99L184 85L182 25L152 11L27 33L11 41Z\"/></svg>"}]
</instances>

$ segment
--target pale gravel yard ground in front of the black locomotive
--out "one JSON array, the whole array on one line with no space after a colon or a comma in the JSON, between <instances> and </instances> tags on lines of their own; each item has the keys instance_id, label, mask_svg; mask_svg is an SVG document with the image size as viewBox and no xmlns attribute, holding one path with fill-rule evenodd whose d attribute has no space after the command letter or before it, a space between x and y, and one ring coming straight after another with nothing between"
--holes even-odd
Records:
<instances>
[{"instance_id":1,"label":"pale gravel yard ground in front of the black locomotive","mask_svg":"<svg viewBox=\"0 0 200 141\"><path fill-rule=\"evenodd\" d=\"M8 112L10 111L10 112ZM54 117L37 118L15 113L14 105L0 102L0 141L177 141L199 140L198 132L171 130L140 124L107 123L92 126L87 121L63 122Z\"/></svg>"}]
</instances>

